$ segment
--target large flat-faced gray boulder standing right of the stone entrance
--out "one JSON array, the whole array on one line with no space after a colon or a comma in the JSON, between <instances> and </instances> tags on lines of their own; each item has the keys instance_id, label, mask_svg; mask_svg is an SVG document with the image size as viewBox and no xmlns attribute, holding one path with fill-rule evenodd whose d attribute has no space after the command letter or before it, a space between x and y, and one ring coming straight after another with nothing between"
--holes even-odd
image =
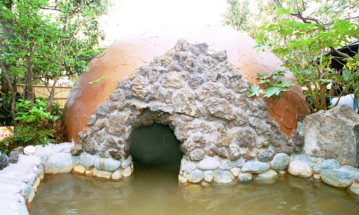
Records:
<instances>
[{"instance_id":1,"label":"large flat-faced gray boulder standing right of the stone entrance","mask_svg":"<svg viewBox=\"0 0 359 215\"><path fill-rule=\"evenodd\" d=\"M358 165L359 114L348 105L318 111L303 120L303 154Z\"/></svg>"}]
</instances>

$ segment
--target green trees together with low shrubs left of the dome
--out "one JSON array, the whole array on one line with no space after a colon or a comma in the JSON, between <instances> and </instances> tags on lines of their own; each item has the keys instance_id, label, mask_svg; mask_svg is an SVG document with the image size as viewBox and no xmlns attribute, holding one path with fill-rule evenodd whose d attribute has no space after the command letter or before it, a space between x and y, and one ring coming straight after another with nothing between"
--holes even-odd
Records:
<instances>
[{"instance_id":1,"label":"green trees together with low shrubs left of the dome","mask_svg":"<svg viewBox=\"0 0 359 215\"><path fill-rule=\"evenodd\" d=\"M19 121L14 136L2 144L63 140L62 113L59 104L53 104L54 91L49 98L34 101L32 86L50 81L56 85L62 77L74 80L88 71L87 63L104 49L99 46L105 35L98 18L112 5L111 0L0 1L0 76L8 74L10 81L25 84L23 98L15 99L14 113L9 113L11 97L1 97L4 120L0 122L11 125L13 115L15 127Z\"/></svg>"}]
</instances>

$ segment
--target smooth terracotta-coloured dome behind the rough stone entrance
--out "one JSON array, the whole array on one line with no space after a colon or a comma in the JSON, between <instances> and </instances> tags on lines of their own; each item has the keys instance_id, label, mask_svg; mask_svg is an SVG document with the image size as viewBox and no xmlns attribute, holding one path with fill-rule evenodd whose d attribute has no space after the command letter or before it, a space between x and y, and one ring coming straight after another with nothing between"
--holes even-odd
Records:
<instances>
[{"instance_id":1,"label":"smooth terracotta-coloured dome behind the rough stone entrance","mask_svg":"<svg viewBox=\"0 0 359 215\"><path fill-rule=\"evenodd\" d=\"M67 140L74 139L77 144L77 133L87 127L88 116L94 114L98 105L108 100L117 82L150 62L154 56L161 56L174 49L174 44L180 38L191 44L205 42L210 51L226 49L228 61L251 83L258 83L255 79L257 72L270 73L279 70L283 64L272 53L256 53L252 49L255 42L251 37L220 26L165 26L128 35L107 47L106 54L92 59L88 63L89 71L83 72L75 81L79 84L71 90L64 109ZM102 76L105 77L102 82L92 85L88 83ZM288 75L284 79L293 80L293 77ZM299 87L295 91L303 96ZM297 129L297 115L309 114L308 106L292 92L284 92L274 102L267 99L267 105L271 118L278 122L281 131L289 137Z\"/></svg>"}]
</instances>

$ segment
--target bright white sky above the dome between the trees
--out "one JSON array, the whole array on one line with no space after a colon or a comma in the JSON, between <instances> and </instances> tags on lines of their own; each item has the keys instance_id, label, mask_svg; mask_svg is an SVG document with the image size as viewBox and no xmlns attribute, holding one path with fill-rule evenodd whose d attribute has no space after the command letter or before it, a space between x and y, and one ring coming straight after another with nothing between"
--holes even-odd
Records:
<instances>
[{"instance_id":1,"label":"bright white sky above the dome between the trees","mask_svg":"<svg viewBox=\"0 0 359 215\"><path fill-rule=\"evenodd\" d=\"M221 25L225 0L115 0L117 9L101 18L104 45L126 35L164 25ZM118 9L118 7L120 9Z\"/></svg>"}]
</instances>

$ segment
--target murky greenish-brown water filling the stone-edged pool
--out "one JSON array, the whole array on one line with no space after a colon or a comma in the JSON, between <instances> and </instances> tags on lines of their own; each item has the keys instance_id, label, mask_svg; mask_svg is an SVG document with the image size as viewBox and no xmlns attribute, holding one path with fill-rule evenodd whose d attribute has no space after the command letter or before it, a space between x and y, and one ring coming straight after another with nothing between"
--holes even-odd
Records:
<instances>
[{"instance_id":1,"label":"murky greenish-brown water filling the stone-edged pool","mask_svg":"<svg viewBox=\"0 0 359 215\"><path fill-rule=\"evenodd\" d=\"M135 166L132 181L48 177L30 215L358 215L359 196L286 176L272 184L178 186L178 169Z\"/></svg>"}]
</instances>

